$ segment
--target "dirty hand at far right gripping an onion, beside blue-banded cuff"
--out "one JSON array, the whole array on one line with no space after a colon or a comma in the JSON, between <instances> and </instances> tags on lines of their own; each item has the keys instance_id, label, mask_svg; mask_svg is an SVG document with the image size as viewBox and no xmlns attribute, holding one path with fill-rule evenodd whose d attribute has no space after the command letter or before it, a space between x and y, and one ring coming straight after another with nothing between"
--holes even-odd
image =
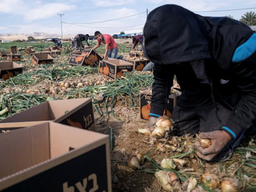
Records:
<instances>
[{"instance_id":1,"label":"dirty hand at far right gripping an onion, beside blue-banded cuff","mask_svg":"<svg viewBox=\"0 0 256 192\"><path fill-rule=\"evenodd\" d=\"M200 132L200 139L211 140L212 145L208 148L203 148L200 145L200 141L196 141L196 154L207 161L211 161L225 145L232 139L231 136L225 131L211 131Z\"/></svg>"}]
</instances>

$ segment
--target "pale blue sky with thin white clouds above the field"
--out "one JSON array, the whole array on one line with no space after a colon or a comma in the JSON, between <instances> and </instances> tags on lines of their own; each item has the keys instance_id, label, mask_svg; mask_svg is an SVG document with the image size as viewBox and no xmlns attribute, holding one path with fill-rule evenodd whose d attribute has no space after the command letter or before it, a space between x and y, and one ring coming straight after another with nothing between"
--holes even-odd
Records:
<instances>
[{"instance_id":1,"label":"pale blue sky with thin white clouds above the field","mask_svg":"<svg viewBox=\"0 0 256 192\"><path fill-rule=\"evenodd\" d=\"M256 12L255 0L0 0L0 34L61 35L61 24L63 38L94 35L95 31L140 33L147 13L163 4L177 4L203 16L231 15L237 20L246 12Z\"/></svg>"}]
</instances>

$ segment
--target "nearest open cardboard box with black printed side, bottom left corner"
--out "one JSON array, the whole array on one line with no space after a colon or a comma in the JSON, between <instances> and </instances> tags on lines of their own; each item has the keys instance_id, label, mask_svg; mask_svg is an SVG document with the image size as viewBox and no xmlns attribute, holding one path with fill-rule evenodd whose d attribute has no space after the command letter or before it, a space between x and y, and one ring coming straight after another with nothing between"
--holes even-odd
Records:
<instances>
[{"instance_id":1,"label":"nearest open cardboard box with black printed side, bottom left corner","mask_svg":"<svg viewBox=\"0 0 256 192\"><path fill-rule=\"evenodd\" d=\"M56 124L0 134L0 191L110 191L109 137Z\"/></svg>"}]
</instances>

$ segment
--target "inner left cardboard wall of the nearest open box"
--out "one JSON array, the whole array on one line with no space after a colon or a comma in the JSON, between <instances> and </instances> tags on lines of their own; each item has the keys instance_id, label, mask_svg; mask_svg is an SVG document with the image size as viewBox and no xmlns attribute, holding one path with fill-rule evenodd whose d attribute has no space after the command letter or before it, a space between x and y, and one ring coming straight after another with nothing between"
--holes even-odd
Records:
<instances>
[{"instance_id":1,"label":"inner left cardboard wall of the nearest open box","mask_svg":"<svg viewBox=\"0 0 256 192\"><path fill-rule=\"evenodd\" d=\"M0 180L46 161L50 158L47 124L0 134L0 154Z\"/></svg>"}]
</instances>

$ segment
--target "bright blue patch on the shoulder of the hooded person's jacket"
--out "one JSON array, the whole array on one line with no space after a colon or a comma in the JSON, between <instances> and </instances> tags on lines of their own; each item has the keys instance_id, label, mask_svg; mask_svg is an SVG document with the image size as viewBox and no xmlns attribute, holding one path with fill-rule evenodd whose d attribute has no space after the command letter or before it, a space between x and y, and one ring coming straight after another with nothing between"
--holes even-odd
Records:
<instances>
[{"instance_id":1,"label":"bright blue patch on the shoulder of the hooded person's jacket","mask_svg":"<svg viewBox=\"0 0 256 192\"><path fill-rule=\"evenodd\" d=\"M243 61L250 57L256 50L256 34L254 33L244 44L236 48L232 62Z\"/></svg>"}]
</instances>

